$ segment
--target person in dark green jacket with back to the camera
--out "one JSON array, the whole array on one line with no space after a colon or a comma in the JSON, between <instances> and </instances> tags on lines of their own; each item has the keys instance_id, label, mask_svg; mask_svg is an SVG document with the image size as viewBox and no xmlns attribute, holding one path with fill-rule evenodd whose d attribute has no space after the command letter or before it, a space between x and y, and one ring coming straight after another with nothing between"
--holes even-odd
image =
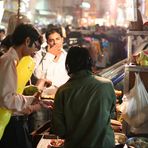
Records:
<instances>
[{"instance_id":1,"label":"person in dark green jacket with back to the camera","mask_svg":"<svg viewBox=\"0 0 148 148\"><path fill-rule=\"evenodd\" d=\"M51 132L65 139L64 148L114 147L112 82L92 73L86 48L71 47L65 66L70 79L55 95Z\"/></svg>"}]
</instances>

